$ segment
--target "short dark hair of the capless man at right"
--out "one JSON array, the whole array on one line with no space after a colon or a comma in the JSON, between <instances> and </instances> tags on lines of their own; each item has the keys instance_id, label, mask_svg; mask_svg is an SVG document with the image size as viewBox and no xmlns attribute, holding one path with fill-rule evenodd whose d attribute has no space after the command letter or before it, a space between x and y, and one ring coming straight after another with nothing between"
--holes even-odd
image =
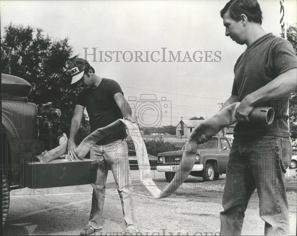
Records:
<instances>
[{"instance_id":1,"label":"short dark hair of the capless man at right","mask_svg":"<svg viewBox=\"0 0 297 236\"><path fill-rule=\"evenodd\" d=\"M241 14L247 16L248 21L260 23L262 25L262 11L257 0L231 0L221 10L220 14L223 15L228 12L230 17L235 21L241 20Z\"/></svg>"}]
</instances>

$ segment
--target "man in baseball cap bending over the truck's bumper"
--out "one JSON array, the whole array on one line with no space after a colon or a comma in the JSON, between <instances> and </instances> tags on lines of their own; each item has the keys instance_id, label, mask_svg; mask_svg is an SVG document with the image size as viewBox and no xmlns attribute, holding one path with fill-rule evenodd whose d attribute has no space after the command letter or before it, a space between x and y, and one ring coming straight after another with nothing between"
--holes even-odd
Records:
<instances>
[{"instance_id":1,"label":"man in baseball cap bending over the truck's bumper","mask_svg":"<svg viewBox=\"0 0 297 236\"><path fill-rule=\"evenodd\" d=\"M131 108L127 105L121 87L116 81L98 77L89 62L81 58L70 62L68 72L72 76L71 84L77 83L83 86L75 99L75 110L71 120L68 140L69 155L72 160L78 160L74 139L80 127L85 107L89 115L91 133L98 128L122 119L123 116L133 123L135 123L135 120L131 116ZM120 131L103 137L91 148L90 159L97 160L99 168L97 180L91 184L93 186L93 196L89 223L80 232L80 235L89 235L102 230L101 217L108 167L113 172L120 195L126 234L135 235L137 232L128 148L124 140L126 136L127 133L123 124ZM119 153L122 154L119 155Z\"/></svg>"}]
</instances>

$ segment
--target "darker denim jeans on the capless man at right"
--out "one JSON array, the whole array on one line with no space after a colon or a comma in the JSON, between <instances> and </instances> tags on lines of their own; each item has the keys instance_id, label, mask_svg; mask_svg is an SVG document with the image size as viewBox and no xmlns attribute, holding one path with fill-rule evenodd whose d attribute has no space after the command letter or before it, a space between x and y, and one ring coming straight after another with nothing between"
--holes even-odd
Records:
<instances>
[{"instance_id":1,"label":"darker denim jeans on the capless man at right","mask_svg":"<svg viewBox=\"0 0 297 236\"><path fill-rule=\"evenodd\" d=\"M284 182L291 156L289 137L234 135L220 213L222 235L241 234L244 212L255 189L264 234L290 233Z\"/></svg>"}]
</instances>

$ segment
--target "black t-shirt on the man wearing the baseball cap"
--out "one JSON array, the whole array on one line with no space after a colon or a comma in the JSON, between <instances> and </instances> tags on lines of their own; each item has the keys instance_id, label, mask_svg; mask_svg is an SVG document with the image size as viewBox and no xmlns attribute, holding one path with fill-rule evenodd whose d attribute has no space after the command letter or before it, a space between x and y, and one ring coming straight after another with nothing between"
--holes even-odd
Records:
<instances>
[{"instance_id":1,"label":"black t-shirt on the man wearing the baseball cap","mask_svg":"<svg viewBox=\"0 0 297 236\"><path fill-rule=\"evenodd\" d=\"M117 93L123 94L120 85L114 80L105 78L102 78L97 88L84 88L78 93L75 104L86 107L90 118L91 133L123 118L121 110L113 98ZM110 140L119 140L125 137L127 137L127 133L123 124L120 131L102 138L96 144L105 145Z\"/></svg>"}]
</instances>

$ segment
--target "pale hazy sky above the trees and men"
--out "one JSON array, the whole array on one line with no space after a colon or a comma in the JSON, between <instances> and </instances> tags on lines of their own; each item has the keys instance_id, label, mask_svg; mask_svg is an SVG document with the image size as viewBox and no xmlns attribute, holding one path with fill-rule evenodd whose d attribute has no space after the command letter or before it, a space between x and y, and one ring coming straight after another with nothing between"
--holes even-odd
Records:
<instances>
[{"instance_id":1,"label":"pale hazy sky above the trees and men","mask_svg":"<svg viewBox=\"0 0 297 236\"><path fill-rule=\"evenodd\" d=\"M0 1L1 36L12 22L69 37L74 55L120 84L140 126L176 126L181 117L209 118L231 95L246 45L225 36L227 2ZM263 29L279 36L279 0L258 2ZM296 0L285 0L285 23L297 23Z\"/></svg>"}]
</instances>

